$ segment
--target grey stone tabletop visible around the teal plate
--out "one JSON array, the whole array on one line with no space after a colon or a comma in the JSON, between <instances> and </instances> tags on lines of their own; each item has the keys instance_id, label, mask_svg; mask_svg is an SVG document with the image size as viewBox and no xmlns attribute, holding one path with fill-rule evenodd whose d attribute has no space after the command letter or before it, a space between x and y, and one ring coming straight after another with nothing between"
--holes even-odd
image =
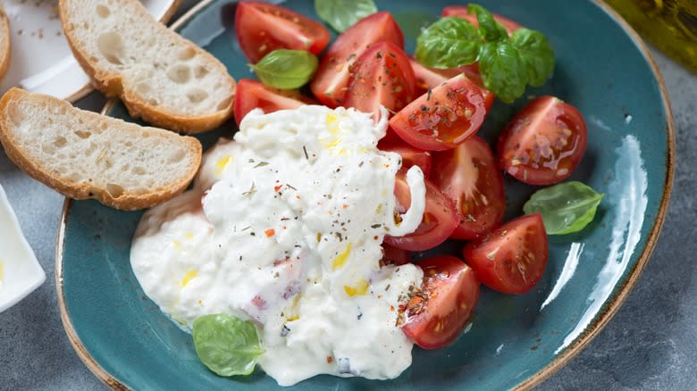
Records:
<instances>
[{"instance_id":1,"label":"grey stone tabletop visible around the teal plate","mask_svg":"<svg viewBox=\"0 0 697 391\"><path fill-rule=\"evenodd\" d=\"M183 7L192 3L187 0ZM697 254L697 76L652 53L676 121L677 165L668 218L626 303L541 389L694 389L697 384L697 262L692 258ZM103 102L92 94L79 105L97 110ZM0 183L47 275L46 284L0 313L0 390L105 389L72 350L58 313L55 231L63 198L29 179L1 150Z\"/></svg>"}]
</instances>

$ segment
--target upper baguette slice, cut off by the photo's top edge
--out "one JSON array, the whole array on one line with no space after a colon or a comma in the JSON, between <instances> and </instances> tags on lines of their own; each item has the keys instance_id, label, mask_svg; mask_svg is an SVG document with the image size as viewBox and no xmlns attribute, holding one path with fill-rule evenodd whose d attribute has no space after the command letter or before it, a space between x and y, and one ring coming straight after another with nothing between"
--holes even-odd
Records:
<instances>
[{"instance_id":1,"label":"upper baguette slice, cut off by the photo's top edge","mask_svg":"<svg viewBox=\"0 0 697 391\"><path fill-rule=\"evenodd\" d=\"M185 133L231 117L235 81L213 55L164 27L139 0L60 0L72 54L132 117Z\"/></svg>"}]
</instances>

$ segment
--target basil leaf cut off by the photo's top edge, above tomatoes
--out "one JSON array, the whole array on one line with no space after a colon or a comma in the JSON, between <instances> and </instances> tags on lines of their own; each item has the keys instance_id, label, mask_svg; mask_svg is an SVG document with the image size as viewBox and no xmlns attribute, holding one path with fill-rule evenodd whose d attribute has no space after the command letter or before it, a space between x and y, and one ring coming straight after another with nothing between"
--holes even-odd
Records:
<instances>
[{"instance_id":1,"label":"basil leaf cut off by the photo's top edge, above tomatoes","mask_svg":"<svg viewBox=\"0 0 697 391\"><path fill-rule=\"evenodd\" d=\"M315 12L332 29L344 32L357 21L377 12L373 0L315 0Z\"/></svg>"}]
</instances>

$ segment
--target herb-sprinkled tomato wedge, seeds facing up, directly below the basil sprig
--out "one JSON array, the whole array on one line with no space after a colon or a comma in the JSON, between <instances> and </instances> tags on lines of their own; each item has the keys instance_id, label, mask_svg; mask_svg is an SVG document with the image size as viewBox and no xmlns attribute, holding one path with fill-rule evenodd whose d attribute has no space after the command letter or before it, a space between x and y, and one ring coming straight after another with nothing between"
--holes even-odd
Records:
<instances>
[{"instance_id":1,"label":"herb-sprinkled tomato wedge, seeds facing up, directly below the basil sprig","mask_svg":"<svg viewBox=\"0 0 697 391\"><path fill-rule=\"evenodd\" d=\"M485 115L482 88L460 74L408 104L390 119L390 127L412 146L441 151L472 136Z\"/></svg>"}]
</instances>

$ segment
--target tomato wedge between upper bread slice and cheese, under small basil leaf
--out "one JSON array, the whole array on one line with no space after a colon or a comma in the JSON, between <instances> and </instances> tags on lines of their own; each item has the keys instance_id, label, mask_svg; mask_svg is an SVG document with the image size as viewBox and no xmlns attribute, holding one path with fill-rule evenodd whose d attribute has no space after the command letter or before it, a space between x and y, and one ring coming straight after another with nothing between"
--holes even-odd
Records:
<instances>
[{"instance_id":1,"label":"tomato wedge between upper bread slice and cheese, under small basil leaf","mask_svg":"<svg viewBox=\"0 0 697 391\"><path fill-rule=\"evenodd\" d=\"M315 104L315 101L295 90L278 89L256 80L240 79L235 89L235 121L239 125L245 115L257 107L268 114L295 109L305 104Z\"/></svg>"}]
</instances>

